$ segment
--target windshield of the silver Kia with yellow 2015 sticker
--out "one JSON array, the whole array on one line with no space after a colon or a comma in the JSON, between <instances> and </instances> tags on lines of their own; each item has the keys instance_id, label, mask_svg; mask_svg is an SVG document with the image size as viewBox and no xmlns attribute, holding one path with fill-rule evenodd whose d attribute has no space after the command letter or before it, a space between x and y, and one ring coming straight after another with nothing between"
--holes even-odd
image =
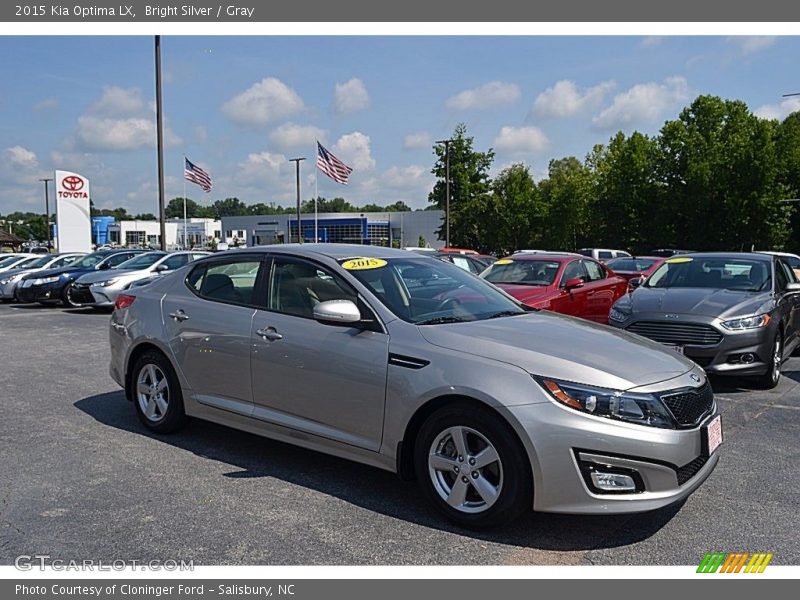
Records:
<instances>
[{"instance_id":1,"label":"windshield of the silver Kia with yellow 2015 sticker","mask_svg":"<svg viewBox=\"0 0 800 600\"><path fill-rule=\"evenodd\" d=\"M452 263L422 257L341 263L389 310L410 323L478 321L525 312L503 292Z\"/></svg>"}]
</instances>

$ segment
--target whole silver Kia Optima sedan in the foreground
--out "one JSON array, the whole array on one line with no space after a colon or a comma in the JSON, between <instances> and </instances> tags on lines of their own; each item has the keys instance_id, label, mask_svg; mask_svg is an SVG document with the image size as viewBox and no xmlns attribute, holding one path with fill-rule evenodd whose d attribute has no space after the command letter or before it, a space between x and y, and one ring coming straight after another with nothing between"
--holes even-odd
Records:
<instances>
[{"instance_id":1,"label":"whole silver Kia Optima sedan in the foreground","mask_svg":"<svg viewBox=\"0 0 800 600\"><path fill-rule=\"evenodd\" d=\"M120 294L110 340L149 429L198 417L394 471L465 526L656 509L722 441L690 360L402 250L216 254Z\"/></svg>"}]
</instances>

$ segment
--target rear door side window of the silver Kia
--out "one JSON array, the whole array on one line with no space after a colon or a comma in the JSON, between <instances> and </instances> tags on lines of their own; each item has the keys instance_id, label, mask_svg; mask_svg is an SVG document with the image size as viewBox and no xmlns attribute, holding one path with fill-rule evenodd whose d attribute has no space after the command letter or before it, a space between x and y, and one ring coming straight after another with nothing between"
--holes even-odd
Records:
<instances>
[{"instance_id":1,"label":"rear door side window of the silver Kia","mask_svg":"<svg viewBox=\"0 0 800 600\"><path fill-rule=\"evenodd\" d=\"M261 261L252 257L206 263L189 273L186 282L207 300L252 304L260 265Z\"/></svg>"}]
</instances>

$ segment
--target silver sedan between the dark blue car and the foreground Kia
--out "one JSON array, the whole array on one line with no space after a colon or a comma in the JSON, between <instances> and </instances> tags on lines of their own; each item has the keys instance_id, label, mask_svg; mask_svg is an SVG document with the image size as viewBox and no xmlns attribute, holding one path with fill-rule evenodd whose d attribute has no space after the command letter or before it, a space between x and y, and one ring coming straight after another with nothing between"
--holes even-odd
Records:
<instances>
[{"instance_id":1,"label":"silver sedan between the dark blue car and the foreground Kia","mask_svg":"<svg viewBox=\"0 0 800 600\"><path fill-rule=\"evenodd\" d=\"M117 296L138 281L155 279L179 269L209 252L146 252L120 264L113 271L87 273L70 288L70 300L79 306L112 307Z\"/></svg>"}]
</instances>

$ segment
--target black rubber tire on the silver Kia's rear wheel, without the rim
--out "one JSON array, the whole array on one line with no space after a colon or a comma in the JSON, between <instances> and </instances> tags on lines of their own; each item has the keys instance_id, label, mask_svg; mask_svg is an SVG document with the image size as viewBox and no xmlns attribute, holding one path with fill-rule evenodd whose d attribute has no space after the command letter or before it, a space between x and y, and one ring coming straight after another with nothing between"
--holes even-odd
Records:
<instances>
[{"instance_id":1,"label":"black rubber tire on the silver Kia's rear wheel, without the rim","mask_svg":"<svg viewBox=\"0 0 800 600\"><path fill-rule=\"evenodd\" d=\"M143 375L143 371L147 373ZM157 375L156 382L153 382L149 375L153 372ZM158 374L163 375L163 379L166 380L166 387L163 390L166 391L166 396L163 396L163 391L161 392L162 399L166 400L166 409L162 410L162 405L156 400L153 400L154 410L152 415L148 416L148 414L146 414L147 409L145 408L145 404L147 404L148 407L150 404L146 400L147 395L140 394L139 382L143 378L145 384L147 381L150 381L151 384L160 382L161 378L158 377ZM181 393L178 377L169 360L160 352L150 350L142 354L142 356L136 360L136 363L133 365L133 370L131 371L130 379L128 380L128 386L130 387L128 390L128 397L133 400L136 415L139 417L142 424L150 431L154 431L155 433L173 433L182 429L189 421L183 408L183 394ZM145 398L142 398L143 395Z\"/></svg>"}]
</instances>

